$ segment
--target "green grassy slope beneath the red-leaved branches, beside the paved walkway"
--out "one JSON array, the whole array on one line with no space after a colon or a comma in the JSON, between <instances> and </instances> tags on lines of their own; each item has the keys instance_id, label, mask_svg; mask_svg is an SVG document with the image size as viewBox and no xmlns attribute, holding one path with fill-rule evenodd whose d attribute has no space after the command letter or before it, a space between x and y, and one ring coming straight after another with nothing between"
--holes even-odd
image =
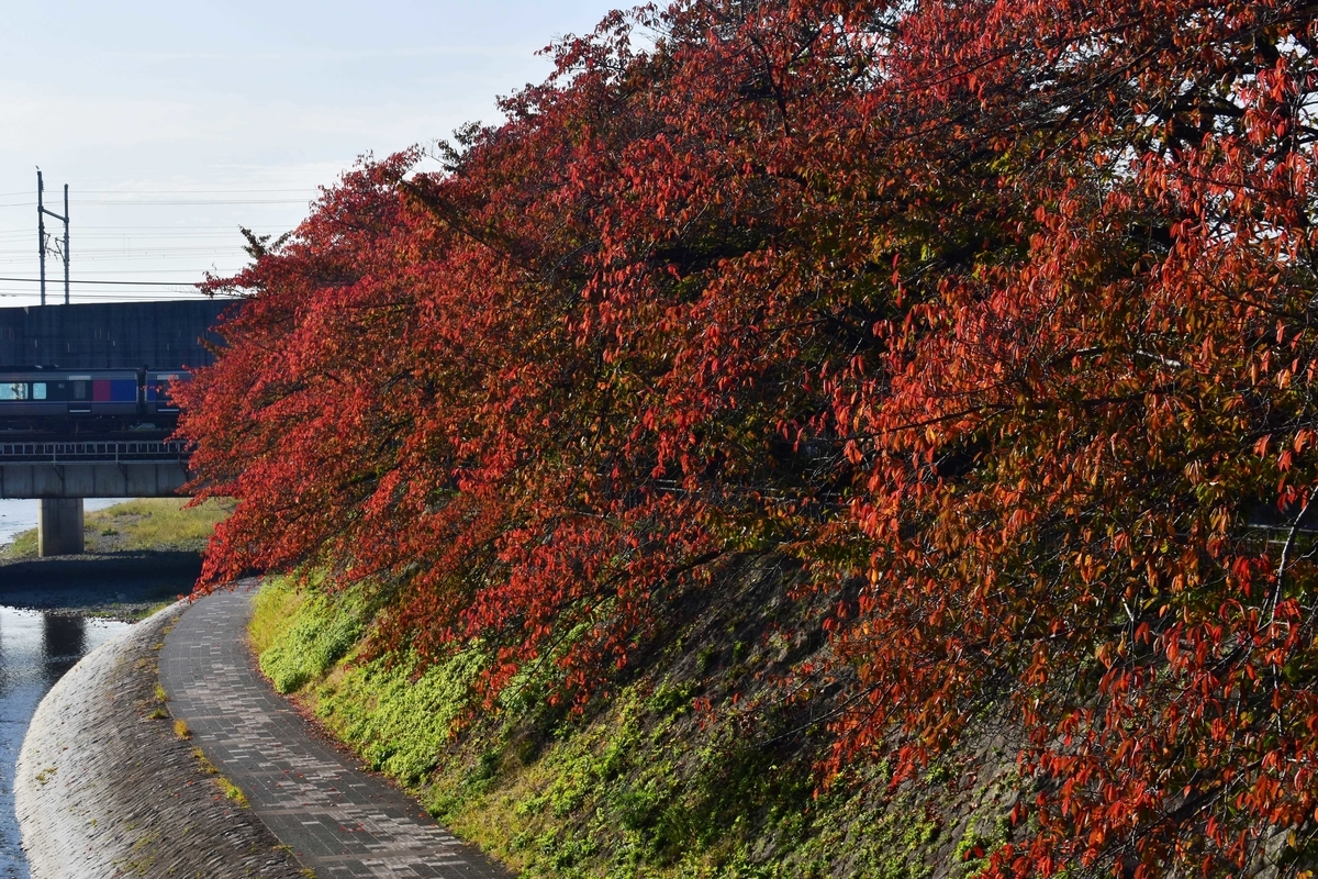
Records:
<instances>
[{"instance_id":1,"label":"green grassy slope beneath the red-leaved branches, beside the paved walkway","mask_svg":"<svg viewBox=\"0 0 1318 879\"><path fill-rule=\"evenodd\" d=\"M977 849L1007 832L1011 776L994 749L896 791L882 770L820 791L826 739L809 725L792 734L818 706L747 713L731 700L774 696L763 681L818 639L787 634L799 619L782 571L725 576L734 600L688 596L585 717L550 708L534 680L481 709L474 647L420 675L406 659L357 660L370 609L352 592L272 582L250 634L281 691L525 876L973 875Z\"/></svg>"}]
</instances>

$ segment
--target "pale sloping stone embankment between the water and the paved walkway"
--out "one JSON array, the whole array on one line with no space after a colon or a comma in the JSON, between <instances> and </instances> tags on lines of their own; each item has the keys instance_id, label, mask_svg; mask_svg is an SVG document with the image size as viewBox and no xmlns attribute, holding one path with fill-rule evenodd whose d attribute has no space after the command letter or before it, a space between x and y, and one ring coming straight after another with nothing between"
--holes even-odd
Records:
<instances>
[{"instance_id":1,"label":"pale sloping stone embankment between the water and the paved walkway","mask_svg":"<svg viewBox=\"0 0 1318 879\"><path fill-rule=\"evenodd\" d=\"M14 800L33 879L261 876L302 866L216 784L157 669L175 605L86 656L37 709Z\"/></svg>"}]
</instances>

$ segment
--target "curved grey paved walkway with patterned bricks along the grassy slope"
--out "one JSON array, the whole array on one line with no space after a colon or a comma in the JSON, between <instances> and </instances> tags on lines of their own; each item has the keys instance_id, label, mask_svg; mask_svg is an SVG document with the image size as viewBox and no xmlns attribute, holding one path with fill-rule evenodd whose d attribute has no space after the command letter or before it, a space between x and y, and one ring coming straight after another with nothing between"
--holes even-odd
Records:
<instances>
[{"instance_id":1,"label":"curved grey paved walkway with patterned bricks along the grassy slope","mask_svg":"<svg viewBox=\"0 0 1318 879\"><path fill-rule=\"evenodd\" d=\"M250 593L192 605L161 652L170 712L318 879L507 879L380 776L322 742L252 667Z\"/></svg>"}]
</instances>

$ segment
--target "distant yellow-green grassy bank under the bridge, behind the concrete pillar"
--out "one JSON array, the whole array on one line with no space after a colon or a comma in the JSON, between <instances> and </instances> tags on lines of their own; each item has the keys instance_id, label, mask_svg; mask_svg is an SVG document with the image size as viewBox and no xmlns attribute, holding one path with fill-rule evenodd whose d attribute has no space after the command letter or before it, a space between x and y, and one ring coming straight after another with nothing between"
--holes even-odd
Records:
<instances>
[{"instance_id":1,"label":"distant yellow-green grassy bank under the bridge, behind the concrete pillar","mask_svg":"<svg viewBox=\"0 0 1318 879\"><path fill-rule=\"evenodd\" d=\"M215 523L228 515L219 501L185 509L186 498L140 498L88 513L83 534L88 553L182 550L200 552ZM37 531L18 534L0 548L0 557L28 559L37 555Z\"/></svg>"}]
</instances>

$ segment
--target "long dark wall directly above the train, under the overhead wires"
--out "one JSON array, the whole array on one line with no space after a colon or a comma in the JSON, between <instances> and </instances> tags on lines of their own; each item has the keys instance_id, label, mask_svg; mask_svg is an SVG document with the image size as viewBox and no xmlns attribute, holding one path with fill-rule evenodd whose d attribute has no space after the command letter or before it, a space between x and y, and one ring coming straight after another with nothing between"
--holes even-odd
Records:
<instances>
[{"instance_id":1,"label":"long dark wall directly above the train, under the overhead wires","mask_svg":"<svg viewBox=\"0 0 1318 879\"><path fill-rule=\"evenodd\" d=\"M0 366L178 369L215 358L202 340L232 299L0 308Z\"/></svg>"}]
</instances>

